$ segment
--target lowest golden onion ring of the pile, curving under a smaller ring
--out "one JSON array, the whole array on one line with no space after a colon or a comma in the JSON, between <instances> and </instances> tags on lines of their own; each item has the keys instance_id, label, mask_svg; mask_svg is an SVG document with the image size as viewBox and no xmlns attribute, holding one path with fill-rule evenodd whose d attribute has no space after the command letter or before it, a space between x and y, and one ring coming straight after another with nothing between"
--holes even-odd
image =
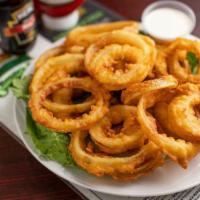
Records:
<instances>
[{"instance_id":1,"label":"lowest golden onion ring of the pile, curving under a smaller ring","mask_svg":"<svg viewBox=\"0 0 200 200\"><path fill-rule=\"evenodd\" d=\"M146 175L152 171L162 160L160 151L153 143L142 146L136 153L129 156L111 157L104 154L88 153L85 150L85 139L89 135L87 131L76 131L72 134L70 141L70 152L75 162L89 173L96 176L111 175L113 178L132 179L140 175ZM148 162L149 161L149 162ZM161 162L160 162L161 163ZM151 167L152 164L152 167Z\"/></svg>"}]
</instances>

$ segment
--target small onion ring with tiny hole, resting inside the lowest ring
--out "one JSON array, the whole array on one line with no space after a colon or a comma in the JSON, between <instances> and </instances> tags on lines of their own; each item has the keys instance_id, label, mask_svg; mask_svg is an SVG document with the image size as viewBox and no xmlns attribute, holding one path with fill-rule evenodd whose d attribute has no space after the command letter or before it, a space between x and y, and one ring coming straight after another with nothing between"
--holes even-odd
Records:
<instances>
[{"instance_id":1,"label":"small onion ring with tiny hole, resting inside the lowest ring","mask_svg":"<svg viewBox=\"0 0 200 200\"><path fill-rule=\"evenodd\" d=\"M112 124L123 122L120 132L112 129ZM144 144L144 136L136 119L134 106L115 105L107 116L89 130L95 144L108 154L123 153Z\"/></svg>"}]
</instances>

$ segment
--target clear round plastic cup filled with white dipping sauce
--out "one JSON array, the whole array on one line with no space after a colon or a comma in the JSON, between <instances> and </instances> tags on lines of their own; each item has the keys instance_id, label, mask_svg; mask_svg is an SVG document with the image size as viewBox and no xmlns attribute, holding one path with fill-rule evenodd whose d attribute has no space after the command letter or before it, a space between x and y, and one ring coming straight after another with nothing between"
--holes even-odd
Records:
<instances>
[{"instance_id":1,"label":"clear round plastic cup filled with white dipping sauce","mask_svg":"<svg viewBox=\"0 0 200 200\"><path fill-rule=\"evenodd\" d=\"M190 34L196 25L193 10L178 1L157 1L142 14L142 30L154 39L170 42Z\"/></svg>"}]
</instances>

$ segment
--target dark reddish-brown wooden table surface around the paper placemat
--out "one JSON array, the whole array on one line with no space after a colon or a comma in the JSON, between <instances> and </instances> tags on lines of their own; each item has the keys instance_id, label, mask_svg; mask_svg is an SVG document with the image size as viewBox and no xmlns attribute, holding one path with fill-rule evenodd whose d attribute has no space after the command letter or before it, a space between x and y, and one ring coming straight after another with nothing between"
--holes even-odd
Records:
<instances>
[{"instance_id":1,"label":"dark reddish-brown wooden table surface around the paper placemat","mask_svg":"<svg viewBox=\"0 0 200 200\"><path fill-rule=\"evenodd\" d=\"M153 0L98 0L121 15L140 20L142 10ZM200 35L200 4L198 0L182 0L197 16L194 35ZM81 199L54 174L40 165L27 150L0 128L0 199L59 200Z\"/></svg>"}]
</instances>

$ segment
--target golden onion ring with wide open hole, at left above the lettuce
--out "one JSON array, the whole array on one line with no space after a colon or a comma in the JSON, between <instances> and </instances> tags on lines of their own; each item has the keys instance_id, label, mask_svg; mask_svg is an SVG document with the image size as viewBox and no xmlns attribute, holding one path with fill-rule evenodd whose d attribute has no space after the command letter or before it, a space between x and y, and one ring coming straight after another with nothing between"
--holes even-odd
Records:
<instances>
[{"instance_id":1,"label":"golden onion ring with wide open hole, at left above the lettuce","mask_svg":"<svg viewBox=\"0 0 200 200\"><path fill-rule=\"evenodd\" d=\"M53 116L53 113L43 107L46 97L61 88L80 88L91 92L96 99L88 114L81 117L66 117L64 120ZM45 85L38 92L34 92L29 100L32 116L38 123L58 132L68 132L79 129L87 129L100 120L108 112L109 94L95 81L86 78L63 78L60 81Z\"/></svg>"}]
</instances>

